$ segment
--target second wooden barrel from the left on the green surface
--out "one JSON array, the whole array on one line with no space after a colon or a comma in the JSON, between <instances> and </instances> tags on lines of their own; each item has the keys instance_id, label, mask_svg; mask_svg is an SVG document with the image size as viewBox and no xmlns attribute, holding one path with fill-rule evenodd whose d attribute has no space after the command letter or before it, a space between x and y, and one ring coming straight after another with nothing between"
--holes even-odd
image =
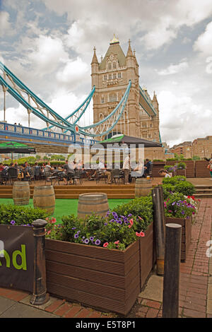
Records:
<instances>
[{"instance_id":1,"label":"second wooden barrel from the left on the green surface","mask_svg":"<svg viewBox=\"0 0 212 332\"><path fill-rule=\"evenodd\" d=\"M34 208L47 210L47 213L52 215L55 208L55 194L53 186L35 186L33 205Z\"/></svg>"}]
</instances>

